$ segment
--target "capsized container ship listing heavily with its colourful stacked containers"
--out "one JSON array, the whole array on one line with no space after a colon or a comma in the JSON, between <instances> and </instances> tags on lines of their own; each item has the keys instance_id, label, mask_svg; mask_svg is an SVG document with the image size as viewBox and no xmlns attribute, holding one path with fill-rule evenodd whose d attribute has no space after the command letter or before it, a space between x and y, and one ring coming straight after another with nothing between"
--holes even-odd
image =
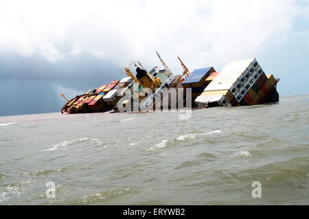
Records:
<instances>
[{"instance_id":1,"label":"capsized container ship listing heavily with its colourful stacked containers","mask_svg":"<svg viewBox=\"0 0 309 219\"><path fill-rule=\"evenodd\" d=\"M188 104L188 101L191 101L192 108L279 102L279 78L266 74L255 58L229 62L221 71L205 67L194 69L191 73L179 58L183 73L174 75L161 56L157 55L163 70L154 67L148 72L141 62L132 62L124 69L127 77L89 89L72 100L65 98L67 104L62 107L61 113L114 113L123 112L124 108L125 111L135 112L158 110L179 108ZM131 71L133 67L136 75ZM143 88L150 89L152 93L148 95ZM164 103L163 97L169 95L172 88L183 92L177 93L176 104L171 101ZM187 92L187 89L191 89L191 92ZM127 91L133 95L126 95Z\"/></svg>"}]
</instances>

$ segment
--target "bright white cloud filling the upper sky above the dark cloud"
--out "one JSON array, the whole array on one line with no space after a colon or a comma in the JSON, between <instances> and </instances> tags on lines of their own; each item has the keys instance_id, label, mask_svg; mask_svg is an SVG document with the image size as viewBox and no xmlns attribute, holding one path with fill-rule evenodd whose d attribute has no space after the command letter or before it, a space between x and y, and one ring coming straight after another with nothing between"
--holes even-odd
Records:
<instances>
[{"instance_id":1,"label":"bright white cloud filling the upper sky above the dark cloud","mask_svg":"<svg viewBox=\"0 0 309 219\"><path fill-rule=\"evenodd\" d=\"M259 56L284 43L295 1L1 1L0 51L47 60L89 54L117 65L160 65L179 73ZM175 72L175 73L176 73Z\"/></svg>"}]
</instances>

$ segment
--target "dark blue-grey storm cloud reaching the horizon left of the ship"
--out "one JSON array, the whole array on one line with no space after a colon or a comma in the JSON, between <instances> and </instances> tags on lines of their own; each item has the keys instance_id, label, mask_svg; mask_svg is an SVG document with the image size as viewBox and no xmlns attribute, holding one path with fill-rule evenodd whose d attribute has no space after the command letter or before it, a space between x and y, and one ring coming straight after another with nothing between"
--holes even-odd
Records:
<instances>
[{"instance_id":1,"label":"dark blue-grey storm cloud reaching the horizon left of the ship","mask_svg":"<svg viewBox=\"0 0 309 219\"><path fill-rule=\"evenodd\" d=\"M86 92L124 76L111 62L89 56L53 63L39 56L1 55L0 116L60 111L63 91L57 87Z\"/></svg>"}]
</instances>

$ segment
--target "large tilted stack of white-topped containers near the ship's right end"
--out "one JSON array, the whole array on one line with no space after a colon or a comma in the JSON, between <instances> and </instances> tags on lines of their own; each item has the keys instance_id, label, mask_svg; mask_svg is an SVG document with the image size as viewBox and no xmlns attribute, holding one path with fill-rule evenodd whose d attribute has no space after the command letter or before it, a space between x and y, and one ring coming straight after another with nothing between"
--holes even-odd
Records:
<instances>
[{"instance_id":1,"label":"large tilted stack of white-topped containers near the ship's right end","mask_svg":"<svg viewBox=\"0 0 309 219\"><path fill-rule=\"evenodd\" d=\"M255 58L229 62L195 100L200 106L259 104L268 92L267 77Z\"/></svg>"}]
</instances>

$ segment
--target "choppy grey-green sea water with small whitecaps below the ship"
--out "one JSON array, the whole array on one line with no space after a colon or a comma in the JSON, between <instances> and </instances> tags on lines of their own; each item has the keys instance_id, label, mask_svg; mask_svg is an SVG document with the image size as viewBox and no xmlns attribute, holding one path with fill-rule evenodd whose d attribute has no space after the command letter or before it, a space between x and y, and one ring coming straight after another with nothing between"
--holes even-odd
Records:
<instances>
[{"instance_id":1,"label":"choppy grey-green sea water with small whitecaps below the ship","mask_svg":"<svg viewBox=\"0 0 309 219\"><path fill-rule=\"evenodd\" d=\"M308 134L309 95L185 120L0 117L0 205L308 205Z\"/></svg>"}]
</instances>

